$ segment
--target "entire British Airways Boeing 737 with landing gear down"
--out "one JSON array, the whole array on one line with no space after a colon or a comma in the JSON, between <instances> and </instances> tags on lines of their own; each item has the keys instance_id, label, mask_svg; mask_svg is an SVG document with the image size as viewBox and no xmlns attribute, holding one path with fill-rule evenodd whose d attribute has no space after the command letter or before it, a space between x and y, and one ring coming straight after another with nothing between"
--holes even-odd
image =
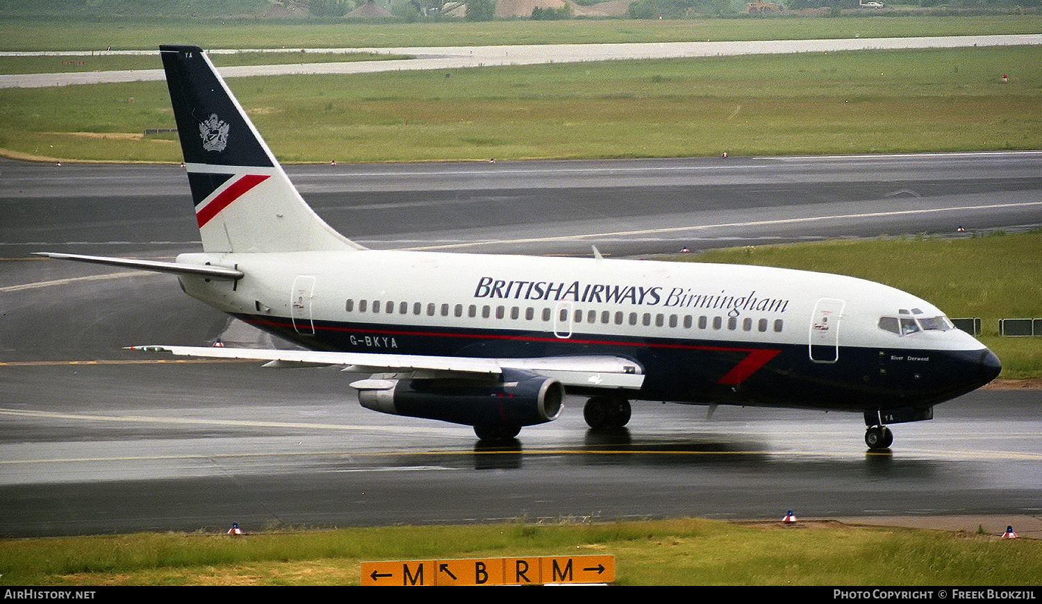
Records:
<instances>
[{"instance_id":1,"label":"entire British Airways Boeing 737 with landing gear down","mask_svg":"<svg viewBox=\"0 0 1042 604\"><path fill-rule=\"evenodd\" d=\"M820 273L710 263L368 250L297 193L199 48L160 47L202 237L174 262L44 253L177 275L184 292L307 350L142 346L271 367L344 366L384 413L512 438L588 398L594 429L630 401L863 412L888 424L999 373L931 303Z\"/></svg>"}]
</instances>

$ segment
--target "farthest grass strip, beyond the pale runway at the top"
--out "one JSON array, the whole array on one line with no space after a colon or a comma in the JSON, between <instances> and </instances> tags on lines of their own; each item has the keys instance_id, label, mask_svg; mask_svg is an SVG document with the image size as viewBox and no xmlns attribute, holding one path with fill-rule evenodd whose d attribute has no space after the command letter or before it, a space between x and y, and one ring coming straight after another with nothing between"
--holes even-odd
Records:
<instances>
[{"instance_id":1,"label":"farthest grass strip, beyond the pale runway at the top","mask_svg":"<svg viewBox=\"0 0 1042 604\"><path fill-rule=\"evenodd\" d=\"M684 19L490 21L483 23L298 23L292 21L0 20L0 50L203 48L367 48L595 44L734 40L816 40L1038 33L1039 15L913 16L865 19Z\"/></svg>"}]
</instances>

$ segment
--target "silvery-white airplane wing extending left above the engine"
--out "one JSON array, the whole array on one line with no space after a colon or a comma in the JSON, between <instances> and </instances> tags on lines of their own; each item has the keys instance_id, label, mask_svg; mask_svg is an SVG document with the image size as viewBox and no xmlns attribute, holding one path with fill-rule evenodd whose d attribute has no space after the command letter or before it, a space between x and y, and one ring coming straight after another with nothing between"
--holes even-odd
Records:
<instances>
[{"instance_id":1,"label":"silvery-white airplane wing extending left above the engine","mask_svg":"<svg viewBox=\"0 0 1042 604\"><path fill-rule=\"evenodd\" d=\"M495 376L505 369L522 370L560 381L565 386L640 389L644 371L617 356L560 356L543 358L471 358L410 354L373 354L316 350L270 350L198 346L132 346L132 350L169 352L176 356L238 358L268 361L265 367L344 366L358 373L430 372Z\"/></svg>"}]
</instances>

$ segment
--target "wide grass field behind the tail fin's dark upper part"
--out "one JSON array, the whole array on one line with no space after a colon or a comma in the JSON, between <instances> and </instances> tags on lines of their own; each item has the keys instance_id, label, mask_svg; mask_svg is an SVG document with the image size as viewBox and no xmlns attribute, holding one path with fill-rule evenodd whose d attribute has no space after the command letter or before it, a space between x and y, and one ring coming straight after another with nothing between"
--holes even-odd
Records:
<instances>
[{"instance_id":1,"label":"wide grass field behind the tail fin's dark upper part","mask_svg":"<svg viewBox=\"0 0 1042 604\"><path fill-rule=\"evenodd\" d=\"M1003 83L1001 75L1010 81ZM1042 47L234 78L283 161L1042 148ZM0 149L179 161L164 82L0 90Z\"/></svg>"}]
</instances>

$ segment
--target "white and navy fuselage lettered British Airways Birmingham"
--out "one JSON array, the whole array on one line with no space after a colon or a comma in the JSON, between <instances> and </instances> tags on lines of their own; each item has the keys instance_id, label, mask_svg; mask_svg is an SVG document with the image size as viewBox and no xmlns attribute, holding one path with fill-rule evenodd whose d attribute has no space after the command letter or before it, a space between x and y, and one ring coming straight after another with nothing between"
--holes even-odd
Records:
<instances>
[{"instance_id":1,"label":"white and navy fuselage lettered British Airways Birmingham","mask_svg":"<svg viewBox=\"0 0 1042 604\"><path fill-rule=\"evenodd\" d=\"M372 250L185 254L178 262L204 258L246 277L182 276L188 294L308 349L612 355L645 374L632 396L641 400L924 407L998 371L994 355L948 324L909 333L880 328L884 317L915 322L943 313L904 292L838 275Z\"/></svg>"}]
</instances>

